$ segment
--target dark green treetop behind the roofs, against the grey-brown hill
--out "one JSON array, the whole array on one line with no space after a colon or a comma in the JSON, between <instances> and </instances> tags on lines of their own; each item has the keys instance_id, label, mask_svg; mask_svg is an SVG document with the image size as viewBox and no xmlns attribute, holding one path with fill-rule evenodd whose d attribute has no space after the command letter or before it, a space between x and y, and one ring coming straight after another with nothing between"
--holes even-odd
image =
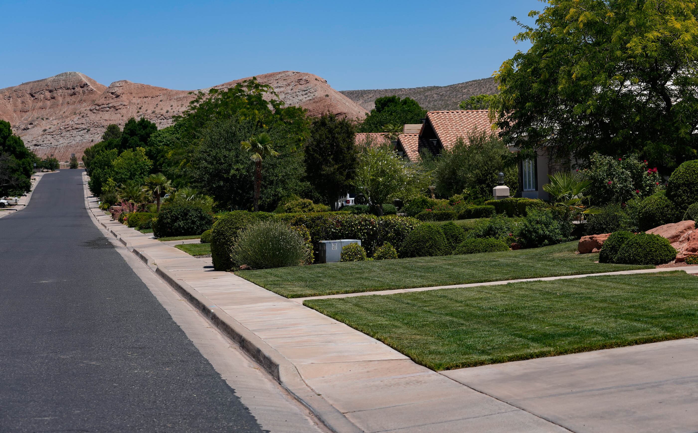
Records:
<instances>
[{"instance_id":1,"label":"dark green treetop behind the roofs, against the grey-brown hill","mask_svg":"<svg viewBox=\"0 0 698 433\"><path fill-rule=\"evenodd\" d=\"M426 110L413 98L383 96L376 99L376 108L366 115L358 132L383 132L387 125L418 124L425 116Z\"/></svg>"}]
</instances>

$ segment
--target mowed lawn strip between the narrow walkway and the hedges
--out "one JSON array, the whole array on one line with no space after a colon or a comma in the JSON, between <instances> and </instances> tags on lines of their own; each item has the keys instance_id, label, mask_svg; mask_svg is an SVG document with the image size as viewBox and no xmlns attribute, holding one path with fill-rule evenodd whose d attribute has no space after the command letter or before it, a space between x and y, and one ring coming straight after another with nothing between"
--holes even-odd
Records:
<instances>
[{"instance_id":1,"label":"mowed lawn strip between the narrow walkway and the hedges","mask_svg":"<svg viewBox=\"0 0 698 433\"><path fill-rule=\"evenodd\" d=\"M653 267L594 263L598 254L574 251L577 242L498 253L323 263L235 273L287 298L304 298Z\"/></svg>"}]
</instances>

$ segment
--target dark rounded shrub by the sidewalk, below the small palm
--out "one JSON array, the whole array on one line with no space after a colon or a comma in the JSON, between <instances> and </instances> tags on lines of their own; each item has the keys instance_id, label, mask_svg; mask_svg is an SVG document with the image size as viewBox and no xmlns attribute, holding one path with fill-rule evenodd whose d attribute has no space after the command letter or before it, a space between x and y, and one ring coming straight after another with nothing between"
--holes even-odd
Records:
<instances>
[{"instance_id":1,"label":"dark rounded shrub by the sidewalk, below the small palm","mask_svg":"<svg viewBox=\"0 0 698 433\"><path fill-rule=\"evenodd\" d=\"M165 205L153 223L155 237L200 235L211 228L213 218L202 207L185 201Z\"/></svg>"}]
</instances>

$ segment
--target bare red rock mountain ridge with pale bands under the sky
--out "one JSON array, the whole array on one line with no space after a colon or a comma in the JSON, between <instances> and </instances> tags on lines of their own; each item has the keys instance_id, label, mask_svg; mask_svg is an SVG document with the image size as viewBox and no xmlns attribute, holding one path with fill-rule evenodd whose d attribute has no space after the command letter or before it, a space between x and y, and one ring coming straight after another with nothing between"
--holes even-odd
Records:
<instances>
[{"instance_id":1,"label":"bare red rock mountain ridge with pale bands under the sky","mask_svg":"<svg viewBox=\"0 0 698 433\"><path fill-rule=\"evenodd\" d=\"M257 75L257 79L274 87L286 105L300 105L310 115L333 112L362 119L366 113L361 105L311 73L283 71ZM215 87L225 89L242 80L246 78ZM66 72L0 89L0 119L10 122L38 156L53 155L68 161L71 153L80 159L86 147L101 140L109 124L123 127L130 117L145 117L158 129L170 126L172 116L185 110L191 99L187 90L126 80L106 87L82 73Z\"/></svg>"}]
</instances>

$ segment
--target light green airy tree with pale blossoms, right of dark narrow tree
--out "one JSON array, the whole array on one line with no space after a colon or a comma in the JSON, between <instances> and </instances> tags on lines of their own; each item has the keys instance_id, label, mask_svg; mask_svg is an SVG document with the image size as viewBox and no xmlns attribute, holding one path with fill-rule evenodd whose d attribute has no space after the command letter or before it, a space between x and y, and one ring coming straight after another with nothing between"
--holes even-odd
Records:
<instances>
[{"instance_id":1,"label":"light green airy tree with pale blossoms, right of dark narrow tree","mask_svg":"<svg viewBox=\"0 0 698 433\"><path fill-rule=\"evenodd\" d=\"M352 184L362 193L371 212L383 215L383 203L387 203L415 182L419 173L415 166L398 156L389 144L362 146L359 167Z\"/></svg>"}]
</instances>

